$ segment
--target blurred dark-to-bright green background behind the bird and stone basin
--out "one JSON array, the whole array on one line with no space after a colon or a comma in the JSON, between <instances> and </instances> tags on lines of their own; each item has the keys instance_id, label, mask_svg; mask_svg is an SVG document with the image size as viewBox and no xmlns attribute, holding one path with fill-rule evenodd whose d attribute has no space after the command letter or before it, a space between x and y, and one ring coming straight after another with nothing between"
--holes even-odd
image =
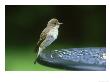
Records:
<instances>
[{"instance_id":1,"label":"blurred dark-to-bright green background behind the bird and stone basin","mask_svg":"<svg viewBox=\"0 0 110 82\"><path fill-rule=\"evenodd\" d=\"M6 5L5 70L62 70L33 64L34 48L47 22L63 23L48 50L106 46L105 5Z\"/></svg>"}]
</instances>

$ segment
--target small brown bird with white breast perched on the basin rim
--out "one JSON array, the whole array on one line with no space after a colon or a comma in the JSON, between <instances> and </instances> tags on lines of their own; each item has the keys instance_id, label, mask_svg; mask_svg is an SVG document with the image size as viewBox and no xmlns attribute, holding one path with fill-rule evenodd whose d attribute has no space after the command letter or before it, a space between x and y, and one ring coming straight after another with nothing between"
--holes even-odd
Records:
<instances>
[{"instance_id":1,"label":"small brown bird with white breast perched on the basin rim","mask_svg":"<svg viewBox=\"0 0 110 82\"><path fill-rule=\"evenodd\" d=\"M37 58L46 47L57 39L58 29L61 24L63 23L60 23L56 18L52 18L48 21L46 28L41 32L40 38L37 42L37 46L39 47ZM36 64L37 58L35 59L34 64Z\"/></svg>"}]
</instances>

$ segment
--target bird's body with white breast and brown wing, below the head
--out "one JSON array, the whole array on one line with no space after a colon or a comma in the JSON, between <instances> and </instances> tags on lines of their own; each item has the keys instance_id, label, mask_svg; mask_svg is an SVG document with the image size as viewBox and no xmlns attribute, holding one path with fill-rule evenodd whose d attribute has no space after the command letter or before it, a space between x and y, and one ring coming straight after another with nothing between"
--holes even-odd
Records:
<instances>
[{"instance_id":1,"label":"bird's body with white breast and brown wing, below the head","mask_svg":"<svg viewBox=\"0 0 110 82\"><path fill-rule=\"evenodd\" d=\"M59 25L54 28L46 28L40 35L40 40L38 41L39 51L38 55L49 46L58 36Z\"/></svg>"}]
</instances>

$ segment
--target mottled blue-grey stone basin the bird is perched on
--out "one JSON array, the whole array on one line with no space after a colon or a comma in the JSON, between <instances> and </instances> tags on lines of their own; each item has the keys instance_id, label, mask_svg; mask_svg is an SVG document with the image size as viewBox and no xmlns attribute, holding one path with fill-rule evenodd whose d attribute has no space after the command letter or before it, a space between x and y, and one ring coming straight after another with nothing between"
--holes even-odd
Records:
<instances>
[{"instance_id":1,"label":"mottled blue-grey stone basin the bird is perched on","mask_svg":"<svg viewBox=\"0 0 110 82\"><path fill-rule=\"evenodd\" d=\"M106 48L70 48L43 52L40 64L67 70L106 70Z\"/></svg>"}]
</instances>

